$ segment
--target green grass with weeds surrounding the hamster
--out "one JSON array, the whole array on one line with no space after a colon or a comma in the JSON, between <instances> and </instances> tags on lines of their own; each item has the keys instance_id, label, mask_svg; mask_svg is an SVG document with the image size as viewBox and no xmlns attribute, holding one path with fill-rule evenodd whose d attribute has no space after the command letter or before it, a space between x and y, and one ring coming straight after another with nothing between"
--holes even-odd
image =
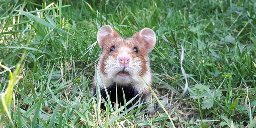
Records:
<instances>
[{"instance_id":1,"label":"green grass with weeds surrounding the hamster","mask_svg":"<svg viewBox=\"0 0 256 128\"><path fill-rule=\"evenodd\" d=\"M0 66L0 125L252 128L255 8L255 0L0 1L0 64L12 72ZM108 101L100 110L99 95L89 93L101 52L96 34L106 24L127 37L145 27L156 32L155 114L120 113Z\"/></svg>"}]
</instances>

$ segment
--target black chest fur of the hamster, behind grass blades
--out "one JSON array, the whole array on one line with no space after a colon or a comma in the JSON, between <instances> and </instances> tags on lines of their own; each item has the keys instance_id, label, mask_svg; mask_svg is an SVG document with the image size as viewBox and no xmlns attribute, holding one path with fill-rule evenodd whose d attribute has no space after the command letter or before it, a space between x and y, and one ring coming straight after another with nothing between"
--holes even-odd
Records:
<instances>
[{"instance_id":1,"label":"black chest fur of the hamster, behind grass blades","mask_svg":"<svg viewBox=\"0 0 256 128\"><path fill-rule=\"evenodd\" d=\"M123 106L124 102L130 101L132 98L134 98L136 95L138 95L140 93L139 91L134 89L132 87L132 85L129 85L129 84L124 86L124 85L119 85L119 84L114 83L111 86L107 87L106 89L108 91L108 94L110 95L110 101L112 103L112 107L114 107L114 102L116 102L116 95L117 95L118 104ZM124 101L124 97L123 97L123 90L124 90L125 101ZM96 89L94 92L96 92ZM116 94L116 92L117 92L117 94ZM107 93L104 88L100 89L100 94L101 94L101 97L104 98L104 100L108 101ZM141 97L141 99L140 99L140 97ZM132 102L129 105L126 106L127 109L132 107L133 104L135 104L138 100L141 100L140 103L145 102L144 98L145 98L145 94L144 95L140 94L134 100L132 100ZM105 105L103 103L100 106L102 109L105 108ZM134 107L134 109L136 109L136 108L138 108L138 107Z\"/></svg>"}]
</instances>

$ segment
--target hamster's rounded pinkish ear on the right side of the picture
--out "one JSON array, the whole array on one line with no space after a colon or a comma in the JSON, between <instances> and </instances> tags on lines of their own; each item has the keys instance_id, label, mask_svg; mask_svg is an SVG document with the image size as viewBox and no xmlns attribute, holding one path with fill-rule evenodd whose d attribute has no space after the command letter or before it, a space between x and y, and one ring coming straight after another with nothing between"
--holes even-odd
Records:
<instances>
[{"instance_id":1,"label":"hamster's rounded pinkish ear on the right side of the picture","mask_svg":"<svg viewBox=\"0 0 256 128\"><path fill-rule=\"evenodd\" d=\"M150 28L143 28L139 32L135 33L132 37L138 39L146 47L146 52L151 52L156 44L156 34Z\"/></svg>"}]
</instances>

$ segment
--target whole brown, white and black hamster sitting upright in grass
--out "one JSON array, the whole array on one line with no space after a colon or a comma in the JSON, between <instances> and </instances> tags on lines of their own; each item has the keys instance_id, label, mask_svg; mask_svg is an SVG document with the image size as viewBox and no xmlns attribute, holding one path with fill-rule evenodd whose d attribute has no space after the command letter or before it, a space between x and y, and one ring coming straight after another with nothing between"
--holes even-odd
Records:
<instances>
[{"instance_id":1,"label":"whole brown, white and black hamster sitting upright in grass","mask_svg":"<svg viewBox=\"0 0 256 128\"><path fill-rule=\"evenodd\" d=\"M148 83L148 85L152 84L148 53L155 47L155 32L150 28L144 28L135 33L132 37L124 38L109 25L106 25L99 29L97 41L102 52L97 65L98 71L92 82L92 93L94 95L97 93L95 82L95 78L97 78L100 94L106 101L108 101L108 98L103 82L108 94L111 94L111 102L116 102L116 90L118 98L117 104L121 106L124 105L123 90L126 102L142 92L127 105L127 109L132 107L140 97L140 103L142 103L142 101L144 104L148 102L150 100L151 91L146 83ZM104 104L101 104L101 108L104 108ZM149 108L151 112L152 108L153 107Z\"/></svg>"}]
</instances>

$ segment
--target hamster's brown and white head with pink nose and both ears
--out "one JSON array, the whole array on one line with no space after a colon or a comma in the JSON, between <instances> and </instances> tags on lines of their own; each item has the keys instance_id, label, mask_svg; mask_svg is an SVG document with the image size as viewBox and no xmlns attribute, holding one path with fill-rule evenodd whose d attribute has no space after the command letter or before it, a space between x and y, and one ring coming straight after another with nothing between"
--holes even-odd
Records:
<instances>
[{"instance_id":1,"label":"hamster's brown and white head with pink nose and both ears","mask_svg":"<svg viewBox=\"0 0 256 128\"><path fill-rule=\"evenodd\" d=\"M156 44L152 29L144 28L132 37L124 38L106 25L99 29L97 41L102 49L97 68L105 79L125 85L138 83L142 76L151 82L148 53Z\"/></svg>"}]
</instances>

